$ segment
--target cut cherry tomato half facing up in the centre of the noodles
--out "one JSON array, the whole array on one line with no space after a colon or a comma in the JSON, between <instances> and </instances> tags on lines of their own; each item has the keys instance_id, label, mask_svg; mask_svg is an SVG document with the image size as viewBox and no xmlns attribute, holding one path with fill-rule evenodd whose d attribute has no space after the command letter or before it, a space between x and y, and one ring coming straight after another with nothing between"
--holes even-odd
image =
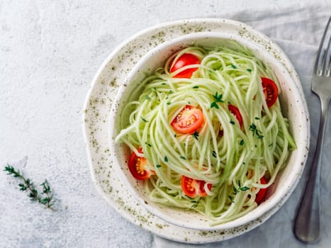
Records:
<instances>
[{"instance_id":1,"label":"cut cherry tomato half facing up in the centre of the noodles","mask_svg":"<svg viewBox=\"0 0 331 248\"><path fill-rule=\"evenodd\" d=\"M200 108L186 105L172 120L172 128L179 133L194 133L203 123L203 113Z\"/></svg>"}]
</instances>

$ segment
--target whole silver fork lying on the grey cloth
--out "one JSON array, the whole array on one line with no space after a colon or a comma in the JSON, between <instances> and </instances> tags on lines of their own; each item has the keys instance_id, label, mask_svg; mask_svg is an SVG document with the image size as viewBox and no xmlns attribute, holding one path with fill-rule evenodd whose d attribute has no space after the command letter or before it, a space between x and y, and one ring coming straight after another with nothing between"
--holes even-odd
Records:
<instances>
[{"instance_id":1,"label":"whole silver fork lying on the grey cloth","mask_svg":"<svg viewBox=\"0 0 331 248\"><path fill-rule=\"evenodd\" d=\"M320 98L320 129L318 143L305 188L305 194L296 216L294 233L305 243L313 243L320 237L320 161L327 122L327 111L331 97L330 57L331 57L331 16L320 41L315 61L311 89Z\"/></svg>"}]
</instances>

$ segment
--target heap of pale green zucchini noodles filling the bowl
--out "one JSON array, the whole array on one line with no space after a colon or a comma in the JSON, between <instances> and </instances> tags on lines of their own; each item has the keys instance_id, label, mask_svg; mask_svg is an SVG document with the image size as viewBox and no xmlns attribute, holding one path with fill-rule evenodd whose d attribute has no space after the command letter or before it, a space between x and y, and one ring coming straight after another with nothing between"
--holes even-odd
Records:
<instances>
[{"instance_id":1,"label":"heap of pale green zucchini noodles filling the bowl","mask_svg":"<svg viewBox=\"0 0 331 248\"><path fill-rule=\"evenodd\" d=\"M169 72L172 61L184 53L195 55L201 64ZM197 68L190 79L174 77L188 68ZM267 106L261 77L273 80L280 91L271 68L247 47L229 42L186 47L140 83L139 98L125 105L123 112L130 111L130 117L121 116L127 125L116 143L145 157L147 168L155 171L144 184L151 201L197 211L210 225L257 207L259 190L274 183L296 149L278 98ZM242 123L229 111L230 104L240 111ZM203 124L194 134L178 133L171 125L187 105L203 113ZM205 181L207 195L186 196L183 175ZM260 182L263 176L267 184Z\"/></svg>"}]
</instances>

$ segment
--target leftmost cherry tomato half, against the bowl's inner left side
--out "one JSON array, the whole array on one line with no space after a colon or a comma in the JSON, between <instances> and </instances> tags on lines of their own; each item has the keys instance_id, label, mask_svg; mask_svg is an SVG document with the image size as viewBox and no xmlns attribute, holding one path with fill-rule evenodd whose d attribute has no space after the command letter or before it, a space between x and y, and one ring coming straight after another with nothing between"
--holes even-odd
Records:
<instances>
[{"instance_id":1,"label":"leftmost cherry tomato half, against the bowl's inner left side","mask_svg":"<svg viewBox=\"0 0 331 248\"><path fill-rule=\"evenodd\" d=\"M142 149L138 150L140 153ZM129 159L129 170L133 177L138 180L147 180L150 178L152 171L146 169L147 159L145 157L138 157L135 152L133 152Z\"/></svg>"}]
</instances>

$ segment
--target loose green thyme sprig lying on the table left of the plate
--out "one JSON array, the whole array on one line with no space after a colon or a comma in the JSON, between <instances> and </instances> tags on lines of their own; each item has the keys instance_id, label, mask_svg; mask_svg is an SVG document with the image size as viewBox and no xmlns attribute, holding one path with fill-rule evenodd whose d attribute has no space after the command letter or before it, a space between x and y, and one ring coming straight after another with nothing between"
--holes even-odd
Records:
<instances>
[{"instance_id":1,"label":"loose green thyme sprig lying on the table left of the plate","mask_svg":"<svg viewBox=\"0 0 331 248\"><path fill-rule=\"evenodd\" d=\"M12 175L14 178L21 180L21 183L18 184L20 191L29 191L28 197L30 197L31 201L37 201L38 203L45 205L45 208L55 210L55 208L53 208L55 199L52 196L50 184L48 184L48 181L46 179L43 184L40 184L40 186L43 187L43 192L38 193L38 190L37 188L35 188L33 181L31 181L26 176L23 176L23 174L21 174L21 171L16 170L9 164L6 165L4 171L6 171L8 175Z\"/></svg>"}]
</instances>

